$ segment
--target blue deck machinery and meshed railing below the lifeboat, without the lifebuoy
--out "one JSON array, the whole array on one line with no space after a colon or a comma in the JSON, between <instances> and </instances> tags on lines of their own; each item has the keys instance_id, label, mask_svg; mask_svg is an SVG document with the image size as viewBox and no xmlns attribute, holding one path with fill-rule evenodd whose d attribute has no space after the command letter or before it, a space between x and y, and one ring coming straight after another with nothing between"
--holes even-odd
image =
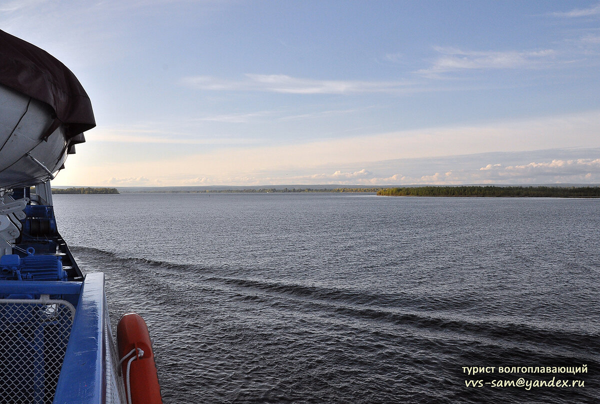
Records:
<instances>
[{"instance_id":1,"label":"blue deck machinery and meshed railing below the lifeboat, without the lifebuoy","mask_svg":"<svg viewBox=\"0 0 600 404\"><path fill-rule=\"evenodd\" d=\"M56 230L49 188L0 203L10 220L0 257L0 404L124 402L104 274L83 278Z\"/></svg>"}]
</instances>

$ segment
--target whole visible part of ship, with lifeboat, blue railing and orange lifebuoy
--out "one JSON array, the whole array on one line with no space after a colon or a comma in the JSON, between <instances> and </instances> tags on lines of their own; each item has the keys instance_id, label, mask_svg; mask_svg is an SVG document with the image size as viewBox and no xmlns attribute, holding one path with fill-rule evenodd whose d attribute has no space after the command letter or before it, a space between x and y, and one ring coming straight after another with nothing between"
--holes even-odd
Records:
<instances>
[{"instance_id":1,"label":"whole visible part of ship, with lifeboat, blue railing and orange lifebuoy","mask_svg":"<svg viewBox=\"0 0 600 404\"><path fill-rule=\"evenodd\" d=\"M146 323L119 322L121 378L104 275L56 228L50 180L94 126L73 73L0 31L0 403L162 403Z\"/></svg>"}]
</instances>

